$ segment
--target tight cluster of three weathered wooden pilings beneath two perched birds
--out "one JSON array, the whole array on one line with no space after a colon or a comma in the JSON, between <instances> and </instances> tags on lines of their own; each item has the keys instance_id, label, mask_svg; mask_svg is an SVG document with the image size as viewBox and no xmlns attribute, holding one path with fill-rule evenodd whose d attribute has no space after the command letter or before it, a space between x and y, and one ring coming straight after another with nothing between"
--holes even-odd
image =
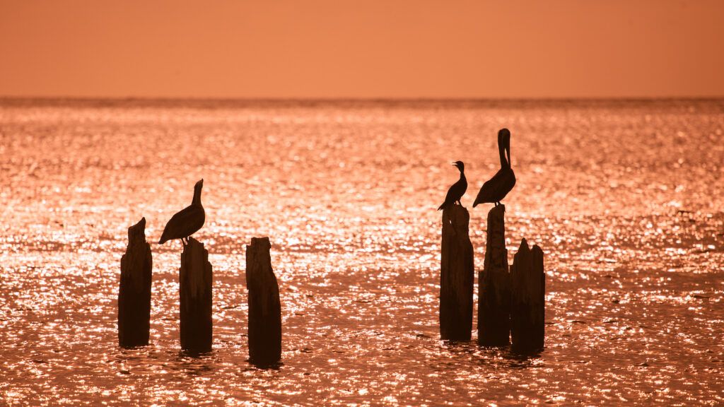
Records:
<instances>
[{"instance_id":1,"label":"tight cluster of three weathered wooden pilings beneath two perched birds","mask_svg":"<svg viewBox=\"0 0 724 407\"><path fill-rule=\"evenodd\" d=\"M473 245L470 214L463 206L442 211L440 337L470 340L473 329ZM478 275L478 343L514 352L540 351L544 344L545 272L543 251L525 239L508 267L505 206L488 212L483 269Z\"/></svg>"}]
</instances>

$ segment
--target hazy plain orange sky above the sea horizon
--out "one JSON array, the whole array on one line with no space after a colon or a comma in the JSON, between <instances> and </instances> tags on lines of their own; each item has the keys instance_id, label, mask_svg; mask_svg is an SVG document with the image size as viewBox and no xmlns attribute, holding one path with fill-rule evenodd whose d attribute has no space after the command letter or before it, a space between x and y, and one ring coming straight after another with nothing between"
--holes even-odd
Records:
<instances>
[{"instance_id":1,"label":"hazy plain orange sky above the sea horizon","mask_svg":"<svg viewBox=\"0 0 724 407\"><path fill-rule=\"evenodd\" d=\"M0 0L0 96L724 96L724 1Z\"/></svg>"}]
</instances>

